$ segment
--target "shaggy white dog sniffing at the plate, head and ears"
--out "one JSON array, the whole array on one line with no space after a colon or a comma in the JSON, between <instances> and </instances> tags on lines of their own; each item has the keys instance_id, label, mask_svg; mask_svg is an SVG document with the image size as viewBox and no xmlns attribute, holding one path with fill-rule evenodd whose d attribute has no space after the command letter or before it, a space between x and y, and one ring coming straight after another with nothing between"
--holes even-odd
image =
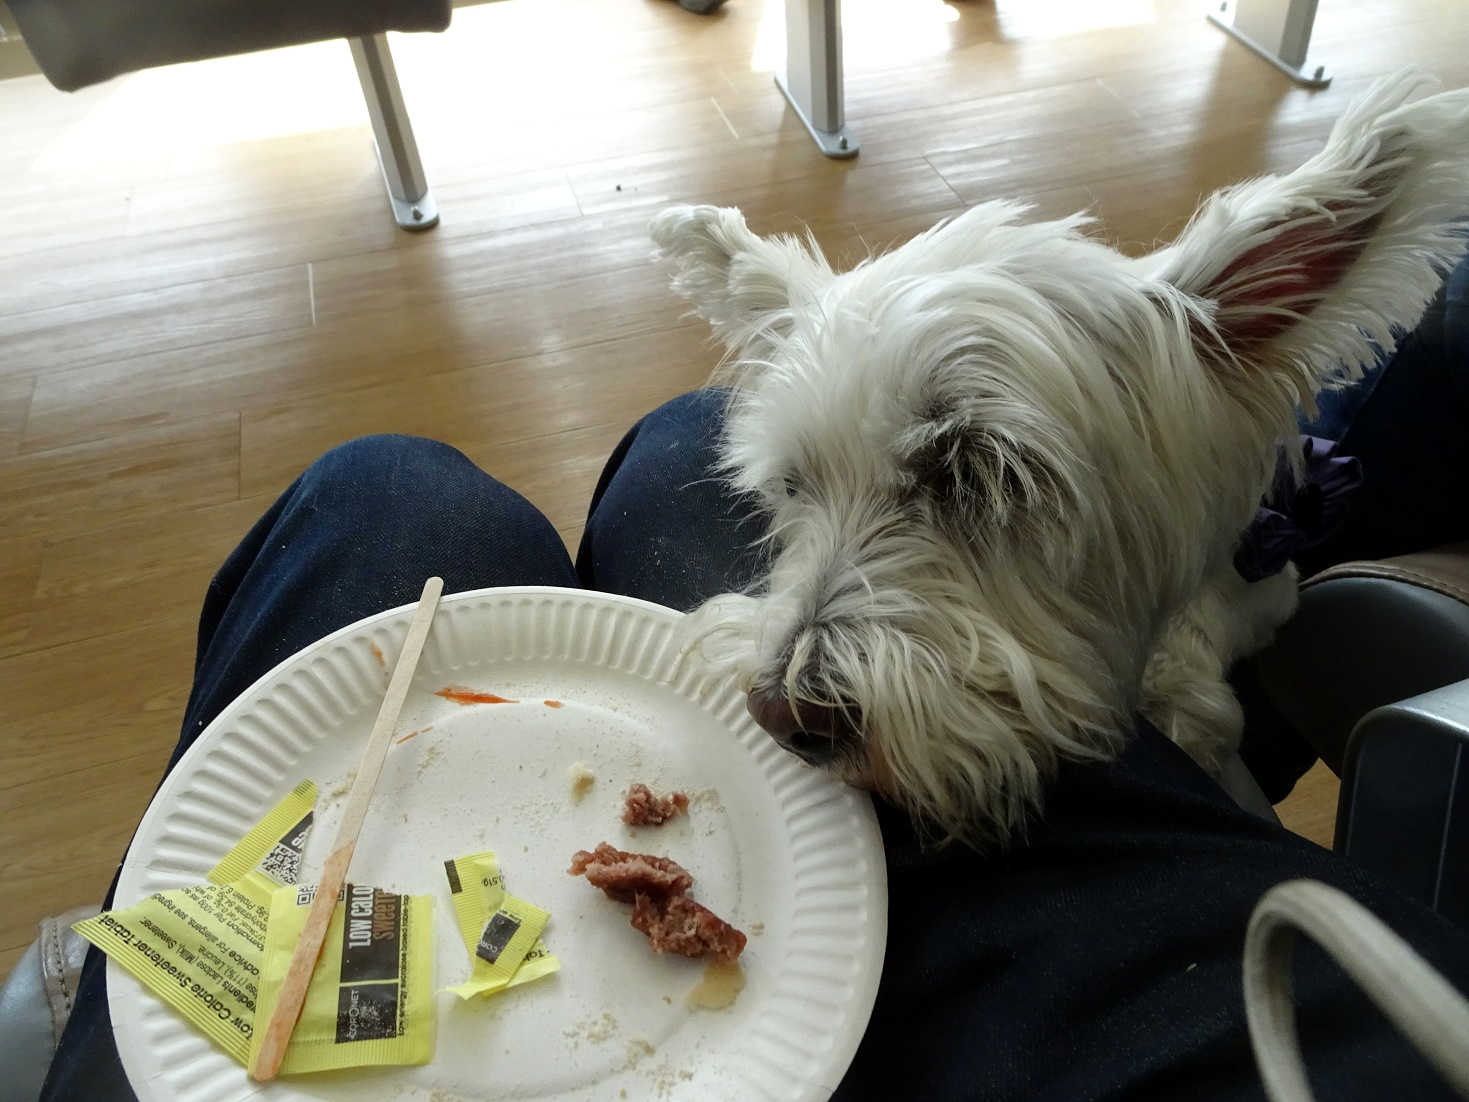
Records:
<instances>
[{"instance_id":1,"label":"shaggy white dog sniffing at the plate, head and ears","mask_svg":"<svg viewBox=\"0 0 1469 1102\"><path fill-rule=\"evenodd\" d=\"M768 577L699 610L701 654L843 710L831 767L977 845L1140 708L1216 768L1230 663L1294 601L1231 563L1278 442L1465 251L1469 91L1423 91L1378 84L1141 259L987 203L837 273L736 210L663 212L673 287L732 353L727 478L770 513Z\"/></svg>"}]
</instances>

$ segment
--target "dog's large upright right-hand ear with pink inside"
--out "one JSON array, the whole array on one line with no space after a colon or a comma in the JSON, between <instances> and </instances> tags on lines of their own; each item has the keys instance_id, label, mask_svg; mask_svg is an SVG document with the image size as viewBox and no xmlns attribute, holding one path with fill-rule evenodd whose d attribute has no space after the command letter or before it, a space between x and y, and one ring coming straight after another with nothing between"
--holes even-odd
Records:
<instances>
[{"instance_id":1,"label":"dog's large upright right-hand ear with pink inside","mask_svg":"<svg viewBox=\"0 0 1469 1102\"><path fill-rule=\"evenodd\" d=\"M1297 403L1412 328L1465 251L1469 90L1401 73L1347 109L1288 176L1210 197L1150 275L1190 297L1200 353ZM1199 307L1199 309L1194 309ZM1376 345L1376 347L1375 347Z\"/></svg>"}]
</instances>

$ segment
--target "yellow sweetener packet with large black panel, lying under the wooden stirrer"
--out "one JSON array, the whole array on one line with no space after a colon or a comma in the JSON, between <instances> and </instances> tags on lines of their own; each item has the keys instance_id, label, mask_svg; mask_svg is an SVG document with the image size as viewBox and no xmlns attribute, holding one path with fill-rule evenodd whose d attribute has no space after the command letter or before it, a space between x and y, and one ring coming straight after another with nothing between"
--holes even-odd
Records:
<instances>
[{"instance_id":1,"label":"yellow sweetener packet with large black panel, lying under the wooden stirrer","mask_svg":"<svg viewBox=\"0 0 1469 1102\"><path fill-rule=\"evenodd\" d=\"M313 887L270 898L257 1021L269 1021ZM347 885L326 927L281 1074L433 1059L433 899ZM263 1033L264 1030L261 1030ZM253 1061L260 1042L251 1039Z\"/></svg>"}]
</instances>

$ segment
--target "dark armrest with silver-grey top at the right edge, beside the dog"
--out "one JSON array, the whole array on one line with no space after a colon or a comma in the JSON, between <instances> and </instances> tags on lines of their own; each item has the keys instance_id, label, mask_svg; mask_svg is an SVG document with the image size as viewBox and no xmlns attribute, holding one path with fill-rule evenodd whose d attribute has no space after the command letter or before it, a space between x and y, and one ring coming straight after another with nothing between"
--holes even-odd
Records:
<instances>
[{"instance_id":1,"label":"dark armrest with silver-grey top at the right edge, beside the dog","mask_svg":"<svg viewBox=\"0 0 1469 1102\"><path fill-rule=\"evenodd\" d=\"M1375 708L1356 726L1337 851L1469 926L1469 680Z\"/></svg>"}]
</instances>

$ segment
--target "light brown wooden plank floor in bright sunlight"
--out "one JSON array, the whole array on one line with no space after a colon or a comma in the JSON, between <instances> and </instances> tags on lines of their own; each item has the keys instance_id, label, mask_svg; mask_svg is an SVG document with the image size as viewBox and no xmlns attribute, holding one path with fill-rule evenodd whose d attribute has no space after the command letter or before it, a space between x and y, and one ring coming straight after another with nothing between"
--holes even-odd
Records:
<instances>
[{"instance_id":1,"label":"light brown wooden plank floor in bright sunlight","mask_svg":"<svg viewBox=\"0 0 1469 1102\"><path fill-rule=\"evenodd\" d=\"M444 212L395 229L342 43L76 96L0 82L0 973L95 901L188 692L213 567L322 450L445 439L574 541L639 413L699 383L648 263L668 200L842 259L965 204L1090 206L1140 250L1290 166L1404 63L1469 82L1469 6L1322 4L1304 93L1196 0L846 0L853 162L771 84L780 0L508 0L398 38ZM1329 774L1290 821L1329 840Z\"/></svg>"}]
</instances>

